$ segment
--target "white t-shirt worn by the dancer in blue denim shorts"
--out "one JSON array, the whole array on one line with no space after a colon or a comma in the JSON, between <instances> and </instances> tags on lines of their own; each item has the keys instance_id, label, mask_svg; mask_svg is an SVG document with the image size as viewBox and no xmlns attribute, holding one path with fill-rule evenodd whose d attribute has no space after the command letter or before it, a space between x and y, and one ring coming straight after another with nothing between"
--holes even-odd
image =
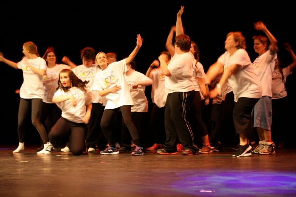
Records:
<instances>
[{"instance_id":1,"label":"white t-shirt worn by the dancer in blue denim shorts","mask_svg":"<svg viewBox=\"0 0 296 197\"><path fill-rule=\"evenodd\" d=\"M253 67L262 85L262 96L272 97L271 81L272 72L275 68L277 53L272 54L270 50L256 58Z\"/></svg>"}]
</instances>

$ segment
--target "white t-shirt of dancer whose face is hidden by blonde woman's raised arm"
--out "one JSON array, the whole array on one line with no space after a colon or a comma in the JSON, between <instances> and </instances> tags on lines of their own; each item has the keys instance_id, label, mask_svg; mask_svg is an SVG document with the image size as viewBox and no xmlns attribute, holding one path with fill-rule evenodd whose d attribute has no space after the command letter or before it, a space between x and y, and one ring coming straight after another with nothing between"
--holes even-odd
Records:
<instances>
[{"instance_id":1,"label":"white t-shirt of dancer whose face is hidden by blonde woman's raised arm","mask_svg":"<svg viewBox=\"0 0 296 197\"><path fill-rule=\"evenodd\" d=\"M133 89L132 85L135 82L151 81L152 80L143 73L133 71L130 75L124 75L125 80L130 88L130 93L133 100L131 112L148 112L148 100L145 96L145 87L138 85L138 88Z\"/></svg>"}]
</instances>

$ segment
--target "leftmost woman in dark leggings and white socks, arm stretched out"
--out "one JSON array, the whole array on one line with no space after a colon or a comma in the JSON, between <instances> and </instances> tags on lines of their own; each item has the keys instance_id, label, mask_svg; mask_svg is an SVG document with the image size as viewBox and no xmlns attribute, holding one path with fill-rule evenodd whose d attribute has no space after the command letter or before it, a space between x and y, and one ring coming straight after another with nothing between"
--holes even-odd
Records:
<instances>
[{"instance_id":1,"label":"leftmost woman in dark leggings and white socks, arm stretched out","mask_svg":"<svg viewBox=\"0 0 296 197\"><path fill-rule=\"evenodd\" d=\"M48 136L44 126L40 122L40 112L42 108L42 99L44 96L43 90L43 75L46 73L46 62L39 57L37 46L29 41L23 44L23 54L25 57L15 63L0 55L0 61L15 68L23 70L24 82L20 87L20 100L18 108L17 134L18 147L13 151L20 152L25 149L25 130L27 118L31 115L32 124L37 129L43 144L47 144Z\"/></svg>"}]
</instances>

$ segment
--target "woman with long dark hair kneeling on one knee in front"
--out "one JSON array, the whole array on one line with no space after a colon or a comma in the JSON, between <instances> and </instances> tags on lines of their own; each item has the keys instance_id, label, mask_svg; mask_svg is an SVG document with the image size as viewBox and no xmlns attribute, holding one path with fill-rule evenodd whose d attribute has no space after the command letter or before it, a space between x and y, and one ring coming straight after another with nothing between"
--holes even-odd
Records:
<instances>
[{"instance_id":1,"label":"woman with long dark hair kneeling on one knee in front","mask_svg":"<svg viewBox=\"0 0 296 197\"><path fill-rule=\"evenodd\" d=\"M56 141L65 134L70 134L72 154L81 155L85 150L86 124L91 114L92 93L86 88L88 82L82 82L73 71L63 69L59 76L59 87L52 102L62 110L62 117L51 128L49 141ZM50 154L52 148L48 142L44 154Z\"/></svg>"}]
</instances>

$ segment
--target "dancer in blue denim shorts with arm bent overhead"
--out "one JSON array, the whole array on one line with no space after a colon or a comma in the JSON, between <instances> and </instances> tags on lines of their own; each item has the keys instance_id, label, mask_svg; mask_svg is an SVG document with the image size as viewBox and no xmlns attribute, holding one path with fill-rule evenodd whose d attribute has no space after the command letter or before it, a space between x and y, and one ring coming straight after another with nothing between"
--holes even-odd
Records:
<instances>
[{"instance_id":1,"label":"dancer in blue denim shorts with arm bent overhead","mask_svg":"<svg viewBox=\"0 0 296 197\"><path fill-rule=\"evenodd\" d=\"M258 21L254 24L258 31L266 34L253 36L254 50L259 56L253 62L254 71L257 74L263 88L262 98L254 107L253 119L254 128L259 136L259 145L253 150L258 154L275 154L275 144L271 139L271 121L272 121L272 73L277 59L277 40L268 31L263 22ZM268 47L268 40L270 42Z\"/></svg>"}]
</instances>

